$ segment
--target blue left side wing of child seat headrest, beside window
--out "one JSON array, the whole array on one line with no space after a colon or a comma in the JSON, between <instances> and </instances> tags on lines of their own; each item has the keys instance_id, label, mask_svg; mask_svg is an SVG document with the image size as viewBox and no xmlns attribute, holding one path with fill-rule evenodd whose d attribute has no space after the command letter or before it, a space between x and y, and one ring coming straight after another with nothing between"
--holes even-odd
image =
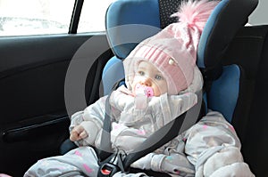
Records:
<instances>
[{"instance_id":1,"label":"blue left side wing of child seat headrest, beside window","mask_svg":"<svg viewBox=\"0 0 268 177\"><path fill-rule=\"evenodd\" d=\"M114 55L124 59L139 42L161 30L158 1L115 1L106 11L105 26Z\"/></svg>"}]
</instances>

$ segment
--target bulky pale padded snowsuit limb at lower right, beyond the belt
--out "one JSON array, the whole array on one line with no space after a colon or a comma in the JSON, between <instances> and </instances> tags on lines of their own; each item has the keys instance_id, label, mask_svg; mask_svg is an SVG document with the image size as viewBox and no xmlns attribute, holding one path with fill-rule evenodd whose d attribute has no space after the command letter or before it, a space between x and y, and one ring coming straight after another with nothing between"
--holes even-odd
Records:
<instances>
[{"instance_id":1,"label":"bulky pale padded snowsuit limb at lower right, beyond the belt","mask_svg":"<svg viewBox=\"0 0 268 177\"><path fill-rule=\"evenodd\" d=\"M234 128L219 112L209 112L186 137L185 152L197 177L255 176L243 160Z\"/></svg>"}]
</instances>

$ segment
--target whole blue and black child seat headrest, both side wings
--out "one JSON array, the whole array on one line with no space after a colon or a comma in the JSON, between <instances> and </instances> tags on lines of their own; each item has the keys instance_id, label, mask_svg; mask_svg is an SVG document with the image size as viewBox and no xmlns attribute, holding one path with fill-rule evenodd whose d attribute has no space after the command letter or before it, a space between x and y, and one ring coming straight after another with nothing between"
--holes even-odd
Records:
<instances>
[{"instance_id":1,"label":"whole blue and black child seat headrest, both side wings","mask_svg":"<svg viewBox=\"0 0 268 177\"><path fill-rule=\"evenodd\" d=\"M162 9L165 6L159 6L161 2L164 1L118 0L109 6L105 21L106 35L117 58L123 60L139 42L164 28L161 18L164 12L159 7ZM174 3L179 5L180 0L174 0ZM257 4L258 0L222 0L215 7L198 44L199 68L215 68L221 63L228 44L239 28L247 23L249 14Z\"/></svg>"}]
</instances>

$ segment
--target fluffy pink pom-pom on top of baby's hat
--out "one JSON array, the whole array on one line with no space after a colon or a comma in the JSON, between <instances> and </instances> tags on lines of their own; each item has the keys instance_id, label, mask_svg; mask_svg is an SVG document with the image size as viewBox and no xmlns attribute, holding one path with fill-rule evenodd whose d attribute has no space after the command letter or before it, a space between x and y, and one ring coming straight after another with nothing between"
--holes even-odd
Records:
<instances>
[{"instance_id":1,"label":"fluffy pink pom-pom on top of baby's hat","mask_svg":"<svg viewBox=\"0 0 268 177\"><path fill-rule=\"evenodd\" d=\"M180 4L179 11L172 14L172 17L178 17L179 22L188 23L189 26L196 26L202 31L208 17L217 4L219 4L219 1L184 1Z\"/></svg>"}]
</instances>

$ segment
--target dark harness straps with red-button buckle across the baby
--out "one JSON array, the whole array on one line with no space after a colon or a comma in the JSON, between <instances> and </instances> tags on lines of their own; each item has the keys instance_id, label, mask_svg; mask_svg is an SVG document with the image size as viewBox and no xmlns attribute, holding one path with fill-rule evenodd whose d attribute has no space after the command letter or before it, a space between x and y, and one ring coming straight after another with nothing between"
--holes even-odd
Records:
<instances>
[{"instance_id":1,"label":"dark harness straps with red-button buckle across the baby","mask_svg":"<svg viewBox=\"0 0 268 177\"><path fill-rule=\"evenodd\" d=\"M109 103L110 95L105 102L105 120L102 132L102 140L100 143L100 149L98 149L99 157L99 172L98 177L113 176L117 172L128 172L130 165L141 157L145 157L155 149L162 147L169 141L172 141L180 133L186 131L190 126L196 124L200 114L202 105L202 91L197 93L197 104L188 109L188 111L181 114L179 117L173 119L167 125L163 125L160 129L151 134L146 141L143 141L137 149L134 149L130 154L122 154L121 152L112 153L111 143L111 117L109 116L111 106ZM109 111L109 112L108 112ZM190 118L186 118L190 117ZM178 130L178 131L174 131ZM161 138L159 138L161 137ZM103 152L106 150L105 152ZM116 158L116 159L115 159ZM114 161L116 164L113 164Z\"/></svg>"}]
</instances>

